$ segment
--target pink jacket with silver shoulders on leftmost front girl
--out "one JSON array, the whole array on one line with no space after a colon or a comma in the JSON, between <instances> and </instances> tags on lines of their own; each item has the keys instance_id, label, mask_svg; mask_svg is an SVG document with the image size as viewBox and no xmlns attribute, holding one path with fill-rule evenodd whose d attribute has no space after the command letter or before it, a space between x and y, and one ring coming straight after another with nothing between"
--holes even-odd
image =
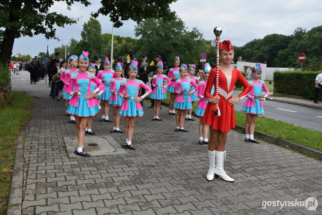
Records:
<instances>
[{"instance_id":1,"label":"pink jacket with silver shoulders on leftmost front girl","mask_svg":"<svg viewBox=\"0 0 322 215\"><path fill-rule=\"evenodd\" d=\"M69 87L68 87L69 94L74 92L73 86L75 86L75 92L80 92L79 82L83 81L83 80L85 80L85 81L88 80L88 89L87 89L86 96L91 93L91 91L90 91L91 81L93 81L94 83L97 84L99 91L105 91L104 84L97 77L95 77L95 75L93 73L90 73L88 71L86 71L85 73L80 73L80 72L76 71L74 73L71 73L70 77L71 78L69 80ZM72 96L71 100L69 101L69 104L77 107L79 97L80 97L80 95ZM87 100L87 104L88 104L88 107L92 107L92 106L97 106L98 102L97 102L97 99L93 97L93 98Z\"/></svg>"}]
</instances>

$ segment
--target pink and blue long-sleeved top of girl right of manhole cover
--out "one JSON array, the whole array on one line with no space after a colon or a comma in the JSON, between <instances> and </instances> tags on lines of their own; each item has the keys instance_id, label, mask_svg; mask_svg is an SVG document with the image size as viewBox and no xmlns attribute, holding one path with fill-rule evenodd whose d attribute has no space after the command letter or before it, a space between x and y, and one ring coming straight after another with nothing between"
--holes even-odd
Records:
<instances>
[{"instance_id":1,"label":"pink and blue long-sleeved top of girl right of manhole cover","mask_svg":"<svg viewBox=\"0 0 322 215\"><path fill-rule=\"evenodd\" d=\"M118 90L118 95L121 96L122 92L125 91L125 94L128 95L130 98L133 97L134 99L138 97L139 91L141 88L144 88L148 94L152 93L150 87L148 87L143 81L141 80L134 80L134 81L123 81L121 82L120 89ZM128 99L124 99L123 102L128 103ZM137 110L142 109L142 105L140 102L136 103Z\"/></svg>"}]
</instances>

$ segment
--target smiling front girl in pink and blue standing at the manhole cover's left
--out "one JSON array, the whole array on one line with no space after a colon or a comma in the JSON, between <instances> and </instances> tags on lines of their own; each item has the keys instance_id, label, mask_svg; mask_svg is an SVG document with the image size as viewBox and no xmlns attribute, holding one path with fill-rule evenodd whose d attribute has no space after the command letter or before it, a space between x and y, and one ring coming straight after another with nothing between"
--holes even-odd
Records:
<instances>
[{"instance_id":1,"label":"smiling front girl in pink and blue standing at the manhole cover's left","mask_svg":"<svg viewBox=\"0 0 322 215\"><path fill-rule=\"evenodd\" d=\"M83 151L85 128L89 117L93 117L98 113L96 108L98 102L94 96L97 93L104 93L105 86L93 73L86 71L89 65L88 52L83 51L78 59L78 65L79 69L71 74L68 93L72 98L69 101L70 105L67 108L67 112L73 114L76 119L78 147L77 150L74 151L75 154L83 157L90 157L90 154ZM98 85L93 92L90 92L91 80Z\"/></svg>"}]
</instances>

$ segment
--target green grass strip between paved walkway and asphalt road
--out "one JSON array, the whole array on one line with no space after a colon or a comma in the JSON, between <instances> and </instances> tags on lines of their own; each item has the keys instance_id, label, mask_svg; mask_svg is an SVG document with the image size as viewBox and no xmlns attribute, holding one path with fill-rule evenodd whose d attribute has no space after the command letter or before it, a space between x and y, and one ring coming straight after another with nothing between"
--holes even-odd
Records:
<instances>
[{"instance_id":1,"label":"green grass strip between paved walkway and asphalt road","mask_svg":"<svg viewBox=\"0 0 322 215\"><path fill-rule=\"evenodd\" d=\"M164 103L169 103L170 93L166 93L166 99ZM193 112L196 109L198 102L193 105ZM236 124L245 126L246 114L240 111L235 111ZM322 132L312 131L306 128L296 126L280 120L268 118L266 116L260 116L256 121L256 131L270 134L276 138L295 142L306 146L311 149L322 151Z\"/></svg>"}]
</instances>

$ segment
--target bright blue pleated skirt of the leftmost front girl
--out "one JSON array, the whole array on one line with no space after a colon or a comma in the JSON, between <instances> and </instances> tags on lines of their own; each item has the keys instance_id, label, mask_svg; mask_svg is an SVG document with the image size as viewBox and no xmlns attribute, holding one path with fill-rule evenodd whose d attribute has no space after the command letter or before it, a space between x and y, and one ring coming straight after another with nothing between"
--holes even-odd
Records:
<instances>
[{"instance_id":1,"label":"bright blue pleated skirt of the leftmost front girl","mask_svg":"<svg viewBox=\"0 0 322 215\"><path fill-rule=\"evenodd\" d=\"M79 97L77 107L69 104L66 113L79 117L95 116L99 112L98 106L88 107L85 97Z\"/></svg>"}]
</instances>

